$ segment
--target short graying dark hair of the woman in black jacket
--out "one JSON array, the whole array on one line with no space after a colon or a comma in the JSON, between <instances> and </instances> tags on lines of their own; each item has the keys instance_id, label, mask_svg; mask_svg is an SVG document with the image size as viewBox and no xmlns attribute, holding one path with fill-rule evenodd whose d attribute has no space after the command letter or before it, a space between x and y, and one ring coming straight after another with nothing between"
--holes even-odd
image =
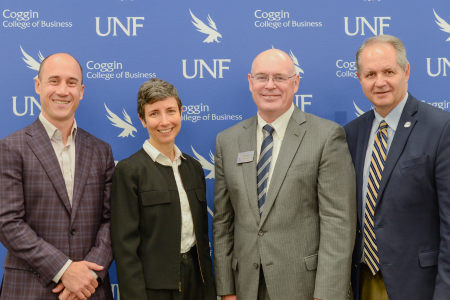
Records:
<instances>
[{"instance_id":1,"label":"short graying dark hair of the woman in black jacket","mask_svg":"<svg viewBox=\"0 0 450 300\"><path fill-rule=\"evenodd\" d=\"M146 81L139 88L138 92L138 115L141 119L145 119L145 105L153 104L157 101L174 97L177 100L178 109L181 113L181 100L178 97L177 89L167 81L159 78L152 78Z\"/></svg>"}]
</instances>

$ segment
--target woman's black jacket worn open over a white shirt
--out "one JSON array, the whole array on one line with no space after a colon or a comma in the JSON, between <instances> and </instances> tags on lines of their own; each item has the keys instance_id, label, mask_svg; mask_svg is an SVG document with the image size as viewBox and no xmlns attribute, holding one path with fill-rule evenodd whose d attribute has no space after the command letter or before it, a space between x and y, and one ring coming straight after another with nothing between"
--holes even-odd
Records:
<instances>
[{"instance_id":1,"label":"woman's black jacket worn open over a white shirt","mask_svg":"<svg viewBox=\"0 0 450 300\"><path fill-rule=\"evenodd\" d=\"M216 299L208 239L206 186L199 162L179 166L194 221L203 299ZM146 288L178 290L181 207L171 167L140 149L117 164L111 196L111 235L120 297L147 299Z\"/></svg>"}]
</instances>

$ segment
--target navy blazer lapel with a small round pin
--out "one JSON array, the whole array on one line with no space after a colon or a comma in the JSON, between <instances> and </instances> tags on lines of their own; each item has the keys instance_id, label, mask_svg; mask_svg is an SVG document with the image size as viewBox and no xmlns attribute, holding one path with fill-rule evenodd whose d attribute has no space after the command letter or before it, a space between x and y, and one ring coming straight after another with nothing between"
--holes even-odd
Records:
<instances>
[{"instance_id":1,"label":"navy blazer lapel with a small round pin","mask_svg":"<svg viewBox=\"0 0 450 300\"><path fill-rule=\"evenodd\" d=\"M382 199L384 188L389 180L389 177L397 164L403 150L405 149L406 142L408 141L409 135L413 130L417 119L413 115L417 112L418 101L411 96L408 96L405 107L403 108L400 121L397 125L397 130L395 131L394 139L392 140L391 147L386 158L386 164L384 166L383 175L381 176L380 188L378 190L377 208L378 201ZM405 127L404 124L410 122L409 127Z\"/></svg>"}]
</instances>

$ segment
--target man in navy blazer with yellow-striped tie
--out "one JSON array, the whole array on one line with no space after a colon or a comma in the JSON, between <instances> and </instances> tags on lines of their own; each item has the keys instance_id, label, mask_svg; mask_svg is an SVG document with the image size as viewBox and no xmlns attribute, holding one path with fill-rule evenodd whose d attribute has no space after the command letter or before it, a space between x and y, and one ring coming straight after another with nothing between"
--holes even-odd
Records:
<instances>
[{"instance_id":1,"label":"man in navy blazer with yellow-striped tie","mask_svg":"<svg viewBox=\"0 0 450 300\"><path fill-rule=\"evenodd\" d=\"M358 78L374 109L345 126L356 169L356 299L450 297L450 114L408 93L393 36L368 39Z\"/></svg>"}]
</instances>

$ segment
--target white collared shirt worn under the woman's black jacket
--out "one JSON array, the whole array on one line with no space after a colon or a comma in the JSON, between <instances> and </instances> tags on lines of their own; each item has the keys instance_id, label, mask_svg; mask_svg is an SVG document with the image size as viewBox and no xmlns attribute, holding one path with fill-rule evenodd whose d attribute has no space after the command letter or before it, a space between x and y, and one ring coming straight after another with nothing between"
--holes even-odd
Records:
<instances>
[{"instance_id":1,"label":"white collared shirt worn under the woman's black jacket","mask_svg":"<svg viewBox=\"0 0 450 300\"><path fill-rule=\"evenodd\" d=\"M178 166L181 164L181 159L185 159L180 149L175 146L175 159L170 161L170 158L162 154L156 149L150 141L147 140L142 146L150 156L150 158L163 166L172 167L173 175L175 176L175 182L177 184L178 195L180 196L181 206L181 245L180 253L188 252L195 245L195 233L194 233L194 221L192 220L191 207L189 206L189 200L187 198L186 191L184 190L183 181L181 180L180 170Z\"/></svg>"}]
</instances>

